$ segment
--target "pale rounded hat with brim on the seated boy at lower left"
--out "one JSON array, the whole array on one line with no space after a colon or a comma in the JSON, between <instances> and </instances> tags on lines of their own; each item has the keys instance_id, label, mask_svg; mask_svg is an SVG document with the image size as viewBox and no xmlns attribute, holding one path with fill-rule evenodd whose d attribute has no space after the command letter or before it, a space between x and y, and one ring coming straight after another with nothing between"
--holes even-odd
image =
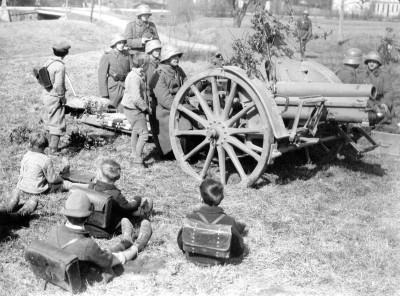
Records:
<instances>
[{"instance_id":1,"label":"pale rounded hat with brim on the seated boy at lower left","mask_svg":"<svg viewBox=\"0 0 400 296\"><path fill-rule=\"evenodd\" d=\"M92 204L86 194L83 191L74 190L68 196L61 214L68 217L84 218L92 214L91 209Z\"/></svg>"}]
</instances>

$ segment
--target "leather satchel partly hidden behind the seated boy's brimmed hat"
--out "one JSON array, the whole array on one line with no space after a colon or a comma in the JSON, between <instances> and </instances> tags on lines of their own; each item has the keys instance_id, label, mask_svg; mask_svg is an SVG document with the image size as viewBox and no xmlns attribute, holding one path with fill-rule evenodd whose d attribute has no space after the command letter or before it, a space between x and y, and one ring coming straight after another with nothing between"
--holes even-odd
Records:
<instances>
[{"instance_id":1,"label":"leather satchel partly hidden behind the seated boy's brimmed hat","mask_svg":"<svg viewBox=\"0 0 400 296\"><path fill-rule=\"evenodd\" d=\"M71 190L80 190L85 192L90 203L93 204L93 214L87 219L87 223L107 228L111 223L112 196L104 192L98 192L89 188L72 188Z\"/></svg>"}]
</instances>

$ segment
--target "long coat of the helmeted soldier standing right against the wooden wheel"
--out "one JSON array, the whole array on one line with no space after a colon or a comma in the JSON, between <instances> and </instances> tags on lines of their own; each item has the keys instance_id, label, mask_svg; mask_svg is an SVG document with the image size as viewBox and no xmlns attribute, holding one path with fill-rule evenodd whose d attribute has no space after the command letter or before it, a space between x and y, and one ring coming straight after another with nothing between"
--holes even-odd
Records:
<instances>
[{"instance_id":1,"label":"long coat of the helmeted soldier standing right against the wooden wheel","mask_svg":"<svg viewBox=\"0 0 400 296\"><path fill-rule=\"evenodd\" d=\"M186 74L179 66L172 67L160 64L150 82L150 88L153 89L154 95L157 98L156 119L158 130L153 131L153 134L156 133L164 155L172 150L169 139L169 114L171 106L177 89L182 86L185 80Z\"/></svg>"}]
</instances>

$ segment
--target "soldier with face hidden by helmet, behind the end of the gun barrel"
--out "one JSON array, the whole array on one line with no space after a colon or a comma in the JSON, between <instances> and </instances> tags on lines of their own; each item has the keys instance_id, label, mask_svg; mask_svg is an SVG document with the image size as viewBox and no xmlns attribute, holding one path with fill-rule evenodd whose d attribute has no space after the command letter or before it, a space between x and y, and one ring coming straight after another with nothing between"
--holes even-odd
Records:
<instances>
[{"instance_id":1,"label":"soldier with face hidden by helmet, behind the end of the gun barrel","mask_svg":"<svg viewBox=\"0 0 400 296\"><path fill-rule=\"evenodd\" d=\"M357 68L362 63L362 52L358 48L350 48L344 54L343 67L336 75L343 83L357 84L360 78L357 77Z\"/></svg>"}]
</instances>

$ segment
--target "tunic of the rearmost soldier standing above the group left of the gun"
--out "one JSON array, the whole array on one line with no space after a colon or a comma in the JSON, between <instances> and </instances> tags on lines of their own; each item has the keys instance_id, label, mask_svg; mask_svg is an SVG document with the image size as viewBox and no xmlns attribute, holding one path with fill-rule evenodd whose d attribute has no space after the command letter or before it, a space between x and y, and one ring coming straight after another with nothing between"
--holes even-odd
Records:
<instances>
[{"instance_id":1,"label":"tunic of the rearmost soldier standing above the group left of the gun","mask_svg":"<svg viewBox=\"0 0 400 296\"><path fill-rule=\"evenodd\" d=\"M124 36L127 40L127 46L131 49L144 52L145 44L142 43L142 37L157 39L156 25L152 22L143 22L139 18L126 25Z\"/></svg>"}]
</instances>

